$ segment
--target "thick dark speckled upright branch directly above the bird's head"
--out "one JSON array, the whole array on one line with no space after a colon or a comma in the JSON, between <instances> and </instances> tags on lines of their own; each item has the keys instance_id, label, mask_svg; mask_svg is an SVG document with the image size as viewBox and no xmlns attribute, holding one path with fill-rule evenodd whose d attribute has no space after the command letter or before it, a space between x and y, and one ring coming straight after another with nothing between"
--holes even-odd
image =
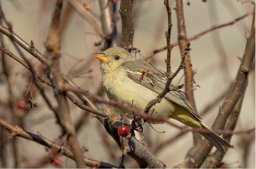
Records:
<instances>
[{"instance_id":1,"label":"thick dark speckled upright branch directly above the bird's head","mask_svg":"<svg viewBox=\"0 0 256 169\"><path fill-rule=\"evenodd\" d=\"M134 23L133 0L121 0L119 13L122 20L120 47L133 47Z\"/></svg>"}]
</instances>

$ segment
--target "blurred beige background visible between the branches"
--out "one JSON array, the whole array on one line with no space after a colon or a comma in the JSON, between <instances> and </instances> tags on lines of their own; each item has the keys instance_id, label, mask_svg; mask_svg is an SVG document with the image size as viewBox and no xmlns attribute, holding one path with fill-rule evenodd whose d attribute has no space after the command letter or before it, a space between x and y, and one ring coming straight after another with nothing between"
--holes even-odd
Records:
<instances>
[{"instance_id":1,"label":"blurred beige background visible between the branches","mask_svg":"<svg viewBox=\"0 0 256 169\"><path fill-rule=\"evenodd\" d=\"M13 24L13 31L27 43L33 40L35 48L44 54L46 52L44 43L49 33L56 1L1 0L0 2L6 19ZM61 25L61 70L81 89L97 94L102 89L102 80L99 61L94 60L91 56L102 51L104 41L102 41L103 39L99 36L95 26L70 2L71 0L65 0L63 6L63 16L65 17L63 17ZM100 21L98 17L101 13L98 0L79 0L76 2L79 2L80 6L86 3L87 8L89 8L87 11L91 12L94 20ZM187 5L188 2L190 5ZM255 3L255 1L252 2ZM237 17L255 10L253 3L234 0L208 0L206 2L184 0L183 5L187 38L209 29L213 25L231 22ZM119 6L120 1L118 0L115 19L120 37ZM173 23L172 44L178 40L177 15L174 9L176 2L170 0L170 6ZM133 46L140 49L144 57L155 49L166 46L165 31L168 28L168 19L163 0L134 0L133 17L135 28ZM234 82L241 62L238 56L243 56L246 46L245 33L250 34L252 22L253 15L251 14L233 25L211 31L190 41L192 48L190 57L193 70L197 72L194 78L196 84L201 86L200 89L197 87L198 90L194 91L195 103L198 114L201 115L204 112L201 115L202 121L208 126L213 124L219 106L225 99L226 95L222 96L223 93L229 91L230 85ZM10 40L5 36L3 36L3 40L5 47L19 57ZM95 46L95 43L99 42L102 42L101 45ZM42 64L29 53L24 51L24 54L40 71ZM139 57L139 55L137 56ZM149 61L158 69L166 70L165 58L166 50L155 54ZM172 71L178 68L180 59L180 49L176 46L171 52ZM31 110L23 110L19 107L20 102L29 99L29 95L25 98L24 95L31 83L31 77L28 77L30 72L10 57L6 57L6 64L8 65L8 78L2 72L0 75L1 118L13 125L20 125L29 132L37 133L40 131L42 136L56 141L61 135L61 130L56 124L54 114L38 94L35 86L32 86L32 93L38 107L33 107ZM182 75L183 72L181 71L172 83L177 84ZM184 83L184 79L180 83ZM43 86L45 86L48 96L53 98L52 102L57 105L52 89L49 86ZM105 92L102 95L107 99ZM10 97L15 103L13 109L8 107ZM216 103L211 109L204 111L214 102ZM97 105L102 110L106 107L101 103L97 103ZM84 111L71 101L69 101L69 106L72 121L76 123ZM15 119L13 114L16 116ZM78 139L85 151L84 156L119 166L122 151L107 134L102 124L96 118L91 119L90 115L88 114L88 118L78 130ZM171 121L180 126L183 125L175 120ZM129 122L127 121L127 123ZM155 132L148 124L143 125L143 128L150 148L156 157L166 164L167 168L183 162L186 152L193 145L192 132L177 137L168 143L166 141L175 138L180 133L179 129L168 124L154 125L157 131L165 131L165 133ZM235 131L253 128L255 128L255 61L249 74L249 83ZM1 129L1 168L54 167L47 160L44 162L49 156L49 150L45 147L23 138L8 139L8 136L4 134L6 132ZM229 149L223 159L225 167L255 168L255 132L234 135L231 144L234 148ZM215 148L213 148L214 150ZM58 156L58 160L60 161L58 167L75 167L74 161L65 156ZM14 161L16 161L16 166ZM127 158L125 166L134 168L137 167L137 164L133 159Z\"/></svg>"}]
</instances>

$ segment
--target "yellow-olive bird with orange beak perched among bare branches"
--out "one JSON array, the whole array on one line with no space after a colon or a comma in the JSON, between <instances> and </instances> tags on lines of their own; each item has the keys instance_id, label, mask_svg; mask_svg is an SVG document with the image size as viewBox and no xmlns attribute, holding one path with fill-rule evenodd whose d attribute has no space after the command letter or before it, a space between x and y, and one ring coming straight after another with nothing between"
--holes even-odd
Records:
<instances>
[{"instance_id":1,"label":"yellow-olive bird with orange beak perched among bare branches","mask_svg":"<svg viewBox=\"0 0 256 169\"><path fill-rule=\"evenodd\" d=\"M143 112L148 103L164 90L167 81L165 72L147 61L137 59L125 48L111 47L92 57L100 60L103 87L109 100L120 101ZM118 106L115 108L122 115L134 118L132 112ZM149 110L149 114L172 118L192 128L207 129L209 132L199 133L222 154L226 154L225 147L232 147L227 140L201 122L201 117L180 90L169 91L160 103Z\"/></svg>"}]
</instances>

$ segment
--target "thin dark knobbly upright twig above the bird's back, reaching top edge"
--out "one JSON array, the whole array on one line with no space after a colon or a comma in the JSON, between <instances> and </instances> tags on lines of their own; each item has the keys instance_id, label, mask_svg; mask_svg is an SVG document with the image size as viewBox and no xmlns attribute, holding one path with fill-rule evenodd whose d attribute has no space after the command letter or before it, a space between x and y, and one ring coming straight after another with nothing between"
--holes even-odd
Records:
<instances>
[{"instance_id":1,"label":"thin dark knobbly upright twig above the bird's back, reaching top edge","mask_svg":"<svg viewBox=\"0 0 256 169\"><path fill-rule=\"evenodd\" d=\"M172 10L171 10L171 7L169 6L169 0L164 0L164 4L166 6L167 14L168 14L168 32L165 32L165 37L167 40L167 59L165 60L165 62L166 62L166 72L168 74L171 74L171 50L173 47L171 46Z\"/></svg>"}]
</instances>

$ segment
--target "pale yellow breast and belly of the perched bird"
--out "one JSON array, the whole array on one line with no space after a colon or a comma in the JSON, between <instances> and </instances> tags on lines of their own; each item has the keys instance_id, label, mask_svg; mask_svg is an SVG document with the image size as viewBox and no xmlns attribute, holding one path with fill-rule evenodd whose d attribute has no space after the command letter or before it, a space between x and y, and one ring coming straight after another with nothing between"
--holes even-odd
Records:
<instances>
[{"instance_id":1,"label":"pale yellow breast and belly of the perched bird","mask_svg":"<svg viewBox=\"0 0 256 169\"><path fill-rule=\"evenodd\" d=\"M103 86L110 100L123 102L140 111L143 111L148 102L158 96L158 93L128 78L125 71L103 76ZM153 106L150 112L157 116L170 117L174 109L173 104L164 98L161 103ZM118 108L118 110L122 114L127 113L124 109Z\"/></svg>"}]
</instances>

